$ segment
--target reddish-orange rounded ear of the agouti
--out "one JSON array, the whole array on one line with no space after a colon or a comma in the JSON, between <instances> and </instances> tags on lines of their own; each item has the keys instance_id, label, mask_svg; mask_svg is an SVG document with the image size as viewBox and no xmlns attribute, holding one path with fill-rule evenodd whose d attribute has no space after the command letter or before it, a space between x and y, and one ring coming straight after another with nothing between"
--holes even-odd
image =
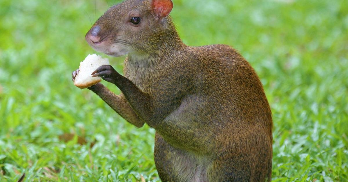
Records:
<instances>
[{"instance_id":1,"label":"reddish-orange rounded ear of the agouti","mask_svg":"<svg viewBox=\"0 0 348 182\"><path fill-rule=\"evenodd\" d=\"M171 13L173 2L171 0L152 0L151 8L158 19L163 19Z\"/></svg>"}]
</instances>

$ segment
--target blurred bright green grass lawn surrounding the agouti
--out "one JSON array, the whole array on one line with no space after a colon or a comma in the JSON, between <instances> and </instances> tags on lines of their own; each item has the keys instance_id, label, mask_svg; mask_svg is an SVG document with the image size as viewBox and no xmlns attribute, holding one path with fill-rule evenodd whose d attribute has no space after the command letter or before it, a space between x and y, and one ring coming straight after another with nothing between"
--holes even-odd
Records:
<instances>
[{"instance_id":1,"label":"blurred bright green grass lawn surrounding the agouti","mask_svg":"<svg viewBox=\"0 0 348 182\"><path fill-rule=\"evenodd\" d=\"M159 181L155 131L71 81L95 53L86 32L118 2L0 0L0 181ZM231 45L259 74L274 118L272 180L347 181L347 0L173 2L185 43ZM109 57L119 72L124 58Z\"/></svg>"}]
</instances>

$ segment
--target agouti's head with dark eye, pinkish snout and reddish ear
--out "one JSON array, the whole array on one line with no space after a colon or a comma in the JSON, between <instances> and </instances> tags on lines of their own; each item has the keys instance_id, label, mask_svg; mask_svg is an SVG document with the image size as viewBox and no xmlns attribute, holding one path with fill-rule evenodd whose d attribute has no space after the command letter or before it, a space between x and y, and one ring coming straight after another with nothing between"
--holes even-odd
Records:
<instances>
[{"instance_id":1,"label":"agouti's head with dark eye, pinkish snout and reddish ear","mask_svg":"<svg viewBox=\"0 0 348 182\"><path fill-rule=\"evenodd\" d=\"M171 0L126 0L108 9L85 39L111 56L151 53L173 28L172 8Z\"/></svg>"}]
</instances>

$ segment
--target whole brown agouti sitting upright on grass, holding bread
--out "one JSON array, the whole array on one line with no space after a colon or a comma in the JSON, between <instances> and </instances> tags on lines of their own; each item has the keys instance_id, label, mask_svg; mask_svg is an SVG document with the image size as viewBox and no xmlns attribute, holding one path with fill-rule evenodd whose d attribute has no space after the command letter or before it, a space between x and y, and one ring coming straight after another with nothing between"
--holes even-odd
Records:
<instances>
[{"instance_id":1,"label":"whole brown agouti sitting upright on grass, holding bread","mask_svg":"<svg viewBox=\"0 0 348 182\"><path fill-rule=\"evenodd\" d=\"M124 76L112 66L89 87L131 124L156 129L162 181L270 181L272 116L260 79L227 45L189 47L168 16L171 0L126 0L86 34L95 50L128 54ZM73 72L73 78L77 72Z\"/></svg>"}]
</instances>

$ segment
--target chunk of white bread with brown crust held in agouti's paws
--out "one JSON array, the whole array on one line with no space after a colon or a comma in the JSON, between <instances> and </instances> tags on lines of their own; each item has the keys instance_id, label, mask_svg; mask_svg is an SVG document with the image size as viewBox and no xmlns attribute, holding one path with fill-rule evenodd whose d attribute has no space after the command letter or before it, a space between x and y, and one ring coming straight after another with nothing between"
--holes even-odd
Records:
<instances>
[{"instance_id":1,"label":"chunk of white bread with brown crust held in agouti's paws","mask_svg":"<svg viewBox=\"0 0 348 182\"><path fill-rule=\"evenodd\" d=\"M92 77L93 71L99 66L109 65L108 58L102 58L100 55L88 55L84 61L80 62L79 73L76 75L74 85L79 88L88 88L102 81L101 77Z\"/></svg>"}]
</instances>

